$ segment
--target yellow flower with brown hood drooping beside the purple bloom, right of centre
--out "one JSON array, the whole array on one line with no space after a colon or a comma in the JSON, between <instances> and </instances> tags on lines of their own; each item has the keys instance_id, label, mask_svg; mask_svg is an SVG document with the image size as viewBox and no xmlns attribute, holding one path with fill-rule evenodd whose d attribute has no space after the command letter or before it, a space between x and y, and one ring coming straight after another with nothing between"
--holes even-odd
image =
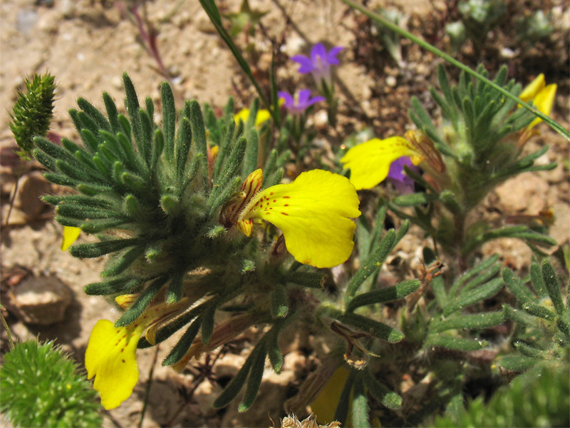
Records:
<instances>
[{"instance_id":1,"label":"yellow flower with brown hood drooping beside the purple bloom, right of centre","mask_svg":"<svg viewBox=\"0 0 570 428\"><path fill-rule=\"evenodd\" d=\"M390 164L408 156L414 165L426 161L427 167L442 173L445 165L433 142L420 131L408 131L403 137L373 138L351 148L341 158L351 169L351 183L356 190L371 189L388 176Z\"/></svg>"}]
</instances>

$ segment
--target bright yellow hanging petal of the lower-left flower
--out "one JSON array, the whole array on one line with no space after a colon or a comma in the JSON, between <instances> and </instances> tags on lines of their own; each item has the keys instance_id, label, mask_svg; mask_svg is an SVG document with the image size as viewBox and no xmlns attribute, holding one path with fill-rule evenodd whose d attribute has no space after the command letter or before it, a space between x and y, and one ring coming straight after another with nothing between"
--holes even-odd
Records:
<instances>
[{"instance_id":1,"label":"bright yellow hanging petal of the lower-left flower","mask_svg":"<svg viewBox=\"0 0 570 428\"><path fill-rule=\"evenodd\" d=\"M109 320L99 320L93 327L85 366L88 379L95 376L93 387L107 410L118 407L133 393L138 381L137 344L144 329L136 322L115 327Z\"/></svg>"}]
</instances>

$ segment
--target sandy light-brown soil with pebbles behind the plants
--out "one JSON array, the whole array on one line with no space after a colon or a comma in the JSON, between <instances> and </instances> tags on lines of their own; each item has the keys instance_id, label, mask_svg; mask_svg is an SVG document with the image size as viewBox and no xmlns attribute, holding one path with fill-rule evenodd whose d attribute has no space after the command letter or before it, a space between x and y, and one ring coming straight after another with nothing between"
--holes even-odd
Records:
<instances>
[{"instance_id":1,"label":"sandy light-brown soil with pebbles behind the plants","mask_svg":"<svg viewBox=\"0 0 570 428\"><path fill-rule=\"evenodd\" d=\"M314 126L319 138L327 144L338 145L351 133L365 128L370 128L377 136L402 134L412 128L407 115L411 96L418 96L428 111L435 111L433 103L428 103L427 88L435 79L435 66L442 61L418 46L402 41L403 61L398 65L385 49L378 47L370 21L350 11L340 1L250 0L249 3L252 9L268 13L261 19L261 28L254 36L247 38L239 34L236 40L242 47L247 43L253 44L257 54L250 59L261 82L267 77L273 47L279 53L276 56L279 88L291 91L309 86L311 82L299 77L296 64L287 61L289 56L306 54L318 41L328 46L345 46L335 76L340 96L338 126L328 128L325 111L317 109L314 112ZM408 29L441 48L448 43L443 24L457 18L457 10L446 6L453 2L447 1L366 3L372 8L381 4L385 8L403 11L408 15ZM529 10L539 9L542 2L507 3L514 8L510 12L528 14ZM456 56L470 66L482 61L491 71L496 71L500 63L507 63L511 77L522 83L531 81L537 73L546 73L549 83L559 84L559 96L552 116L569 128L567 43L570 6L567 1L551 0L548 3L556 22L548 41L528 46L517 42L507 29L496 30L491 31L483 49L477 50L466 44ZM237 11L241 1L218 1L217 4L227 13ZM145 49L140 30L129 19L126 11L132 6L157 31L157 47L163 67ZM521 9L516 10L517 7ZM133 79L140 98L150 95L155 101L157 122L160 122L159 86L165 77L175 88L178 106L182 106L184 99L197 99L218 108L224 106L228 96L236 98L237 107L247 106L254 97L254 89L219 39L199 2L194 0L4 0L0 4L0 16L3 293L10 284L17 283L14 275L24 270L35 277L58 277L73 296L65 319L55 325L26 325L13 314L6 315L11 331L19 340L30 337L55 340L82 365L95 322L101 318L115 320L119 313L110 302L83 293L84 285L98 281L103 260L77 260L60 250L63 228L53 221L50 208L38 205L38 195L61 189L51 185L46 187L42 179L20 186L9 224L5 225L10 195L19 173L26 178L37 175L41 170L37 163L20 163L11 154L14 140L8 126L9 111L16 99L16 91L23 86L23 79L45 71L56 76L57 101L51 133L52 136L72 140L77 140L77 136L67 111L76 107L76 98L81 96L95 106L103 106L100 96L103 91L108 91L120 106L123 71ZM145 31L148 29L145 27ZM509 51L504 48L509 48ZM569 144L545 124L541 124L540 129L542 135L534 138L525 150L535 151L549 145L550 150L538 162L555 161L559 163L558 167L507 181L487 198L480 215L487 218L537 215L539 211L551 208L555 220L549 232L560 246L568 248ZM80 239L93 238L82 236ZM421 254L417 249L422 240L420 231L412 229L396 250L395 254L405 262L398 264L398 269L406 271L403 275L414 275L414 269L420 263ZM532 258L526 246L512 240L494 241L485 245L482 251L483 254L499 253L505 265L523 272ZM4 299L5 294L2 297ZM148 407L142 422L144 427L267 427L271 419L278 423L279 418L285 416L285 399L295 394L307 372L318 362L314 351L316 345L307 337L291 340L283 374L277 376L266 370L261 394L249 412L237 412L239 400L227 409L211 409L213 399L222 388L216 380L229 379L237 372L254 337L255 331L247 332L237 345L224 348L210 370L212 382L200 377L200 370L204 373L209 370L209 362L204 359L201 365L193 363L193 367L182 373L160 365L177 337L160 345L156 351L154 348L139 351L140 379L135 392L118 409L105 412L103 426L133 427L139 424L151 373ZM4 331L1 339L2 352L5 352ZM309 342L313 345L307 345ZM305 345L301 347L299 344L303 343ZM217 352L214 352L212 359L216 356ZM201 379L200 382L197 379Z\"/></svg>"}]
</instances>

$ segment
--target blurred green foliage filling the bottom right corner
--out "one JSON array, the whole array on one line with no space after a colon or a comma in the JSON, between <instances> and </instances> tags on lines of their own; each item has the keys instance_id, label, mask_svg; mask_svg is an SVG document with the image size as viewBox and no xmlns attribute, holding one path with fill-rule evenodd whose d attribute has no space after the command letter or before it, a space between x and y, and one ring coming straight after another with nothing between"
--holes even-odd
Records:
<instances>
[{"instance_id":1,"label":"blurred green foliage filling the bottom right corner","mask_svg":"<svg viewBox=\"0 0 570 428\"><path fill-rule=\"evenodd\" d=\"M568 427L570 372L566 367L537 367L467 407L448 407L429 427Z\"/></svg>"}]
</instances>

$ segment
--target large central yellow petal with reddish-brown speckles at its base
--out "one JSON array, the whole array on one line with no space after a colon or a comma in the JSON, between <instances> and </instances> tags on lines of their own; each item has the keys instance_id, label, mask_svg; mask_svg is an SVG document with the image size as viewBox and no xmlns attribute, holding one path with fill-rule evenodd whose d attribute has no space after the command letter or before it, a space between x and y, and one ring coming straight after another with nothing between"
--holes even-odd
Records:
<instances>
[{"instance_id":1,"label":"large central yellow petal with reddish-brown speckles at its base","mask_svg":"<svg viewBox=\"0 0 570 428\"><path fill-rule=\"evenodd\" d=\"M342 175L325 170L301 173L290 184L258 193L239 220L261 218L281 229L295 260L315 267L333 267L352 253L358 217L358 195Z\"/></svg>"}]
</instances>

